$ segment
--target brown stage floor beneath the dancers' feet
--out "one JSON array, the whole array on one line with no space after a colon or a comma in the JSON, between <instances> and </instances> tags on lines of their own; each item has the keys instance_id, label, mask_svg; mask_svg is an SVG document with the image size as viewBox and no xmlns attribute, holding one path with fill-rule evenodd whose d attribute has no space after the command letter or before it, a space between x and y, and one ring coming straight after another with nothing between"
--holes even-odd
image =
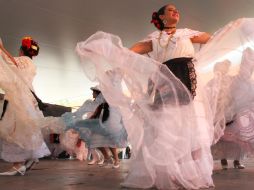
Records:
<instances>
[{"instance_id":1,"label":"brown stage floor beneath the dancers' feet","mask_svg":"<svg viewBox=\"0 0 254 190\"><path fill-rule=\"evenodd\" d=\"M254 187L254 159L245 160L246 169L221 170L215 162L213 179L215 190L252 190ZM0 161L0 171L10 165ZM88 166L77 160L41 160L25 176L0 176L0 190L124 190L120 186L128 172L129 161L118 169Z\"/></svg>"}]
</instances>

